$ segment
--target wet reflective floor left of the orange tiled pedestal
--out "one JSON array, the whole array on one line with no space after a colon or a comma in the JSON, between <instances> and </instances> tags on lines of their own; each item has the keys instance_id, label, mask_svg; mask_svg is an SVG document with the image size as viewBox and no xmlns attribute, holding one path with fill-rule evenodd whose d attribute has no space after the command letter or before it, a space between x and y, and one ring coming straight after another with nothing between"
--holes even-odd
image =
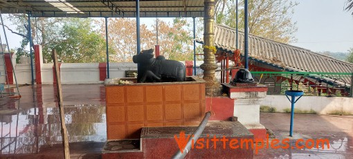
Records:
<instances>
[{"instance_id":1,"label":"wet reflective floor left of the orange tiled pedestal","mask_svg":"<svg viewBox=\"0 0 353 159\"><path fill-rule=\"evenodd\" d=\"M93 90L87 86L78 86L80 97L77 98L75 98L75 92L70 91L72 89L70 86L64 85L63 87L64 91L66 90L66 93L63 94L67 95L67 100L64 98L64 104L73 104L64 105L66 129L70 143L89 142L88 145L96 146L91 149L100 152L100 145L103 145L107 140L107 126L105 105L101 104L102 102L99 100L104 101L105 99L100 98L104 97L102 85L93 85ZM84 100L84 94L82 95L85 90L90 90L87 91L89 94L86 95L87 100ZM56 94L55 88L50 85L35 86L33 91L31 86L24 86L20 88L20 91L23 93L20 100L5 98L0 101L0 154L41 153L48 150L60 153L62 139L59 109L54 96ZM34 95L31 91L34 92ZM44 91L46 93L43 93ZM72 95L68 92L71 92ZM96 102L97 99L98 102ZM51 147L53 149L48 149ZM55 147L58 149L55 150Z\"/></svg>"}]
</instances>

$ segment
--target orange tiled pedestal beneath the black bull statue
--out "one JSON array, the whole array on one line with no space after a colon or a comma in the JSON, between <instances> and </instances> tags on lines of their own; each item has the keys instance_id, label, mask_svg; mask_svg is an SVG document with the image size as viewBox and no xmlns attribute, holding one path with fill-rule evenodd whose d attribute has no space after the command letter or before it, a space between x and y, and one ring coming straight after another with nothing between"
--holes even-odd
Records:
<instances>
[{"instance_id":1,"label":"orange tiled pedestal beneath the black bull statue","mask_svg":"<svg viewBox=\"0 0 353 159\"><path fill-rule=\"evenodd\" d=\"M140 138L142 127L197 126L205 114L203 79L107 85L107 139Z\"/></svg>"}]
</instances>

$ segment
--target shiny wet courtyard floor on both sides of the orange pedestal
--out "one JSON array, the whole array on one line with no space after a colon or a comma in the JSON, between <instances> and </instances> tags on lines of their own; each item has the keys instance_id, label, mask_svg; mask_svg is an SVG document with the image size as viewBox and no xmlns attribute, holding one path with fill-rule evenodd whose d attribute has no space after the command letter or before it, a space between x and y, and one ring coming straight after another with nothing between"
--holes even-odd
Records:
<instances>
[{"instance_id":1,"label":"shiny wet courtyard floor on both sides of the orange pedestal","mask_svg":"<svg viewBox=\"0 0 353 159\"><path fill-rule=\"evenodd\" d=\"M0 158L62 158L56 89L21 86L20 93L20 100L0 99ZM104 86L63 85L63 96L71 157L100 158L107 140ZM296 114L294 118L291 146L299 138L328 138L330 148L260 149L254 158L353 158L353 116ZM289 120L287 113L260 115L261 123L278 139L289 138Z\"/></svg>"}]
</instances>

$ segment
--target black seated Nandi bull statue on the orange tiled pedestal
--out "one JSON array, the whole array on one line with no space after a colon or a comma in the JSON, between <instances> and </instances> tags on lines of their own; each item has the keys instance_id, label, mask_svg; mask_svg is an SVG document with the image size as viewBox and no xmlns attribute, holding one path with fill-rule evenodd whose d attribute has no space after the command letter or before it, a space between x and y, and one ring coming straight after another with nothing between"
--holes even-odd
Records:
<instances>
[{"instance_id":1,"label":"black seated Nandi bull statue on the orange tiled pedestal","mask_svg":"<svg viewBox=\"0 0 353 159\"><path fill-rule=\"evenodd\" d=\"M138 64L137 82L183 82L185 81L185 66L181 62L165 59L162 55L154 58L153 48L142 50L132 57Z\"/></svg>"}]
</instances>

